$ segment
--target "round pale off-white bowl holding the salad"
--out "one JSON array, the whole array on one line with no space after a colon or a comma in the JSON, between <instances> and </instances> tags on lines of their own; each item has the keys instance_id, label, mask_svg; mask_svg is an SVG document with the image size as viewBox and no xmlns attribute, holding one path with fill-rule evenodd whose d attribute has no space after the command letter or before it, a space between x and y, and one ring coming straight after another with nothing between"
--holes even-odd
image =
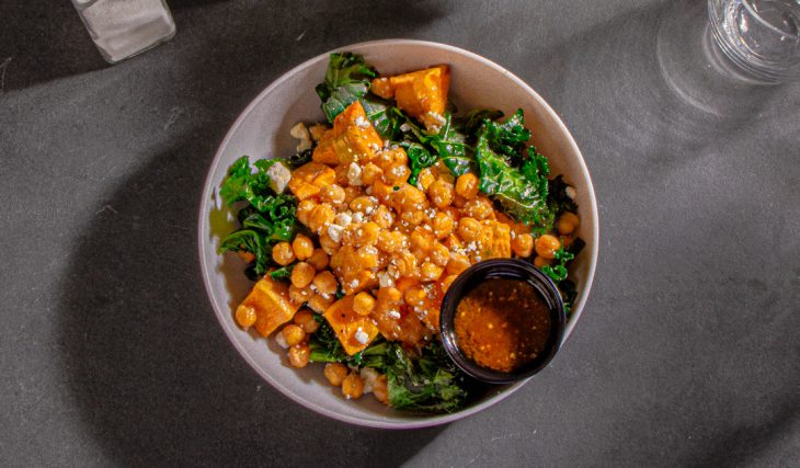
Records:
<instances>
[{"instance_id":1,"label":"round pale off-white bowl holding the salad","mask_svg":"<svg viewBox=\"0 0 800 468\"><path fill-rule=\"evenodd\" d=\"M339 47L364 55L384 75L416 70L436 64L452 69L450 99L462 110L496 107L511 115L525 111L533 141L550 161L551 174L563 174L575 186L581 226L579 236L586 247L573 263L571 277L579 295L564 340L586 303L597 261L597 205L592 181L581 151L567 127L541 96L524 81L499 65L457 47L422 41L389 39ZM322 376L322 366L304 369L288 366L285 353L273 339L264 340L239 329L232 311L252 286L244 277L244 265L236 255L220 255L220 239L236 228L232 213L217 191L228 168L242 155L251 161L287 157L296 141L289 128L297 122L323 119L320 101L313 91L328 66L328 54L317 56L289 70L259 94L236 121L212 163L199 210L199 260L208 297L219 323L236 349L273 387L318 413L340 421L373 427L413 429L452 422L489 408L519 389L525 383L499 386L480 400L452 414L415 414L387 409L372 397L348 401ZM556 357L558 358L558 357Z\"/></svg>"}]
</instances>

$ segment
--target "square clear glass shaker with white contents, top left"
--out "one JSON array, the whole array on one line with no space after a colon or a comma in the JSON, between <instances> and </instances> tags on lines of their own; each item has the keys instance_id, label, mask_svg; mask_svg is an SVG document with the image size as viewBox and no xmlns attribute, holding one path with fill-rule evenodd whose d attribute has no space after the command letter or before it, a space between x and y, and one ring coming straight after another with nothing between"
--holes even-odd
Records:
<instances>
[{"instance_id":1,"label":"square clear glass shaker with white contents, top left","mask_svg":"<svg viewBox=\"0 0 800 468\"><path fill-rule=\"evenodd\" d=\"M100 54L116 64L175 35L163 0L72 0Z\"/></svg>"}]
</instances>

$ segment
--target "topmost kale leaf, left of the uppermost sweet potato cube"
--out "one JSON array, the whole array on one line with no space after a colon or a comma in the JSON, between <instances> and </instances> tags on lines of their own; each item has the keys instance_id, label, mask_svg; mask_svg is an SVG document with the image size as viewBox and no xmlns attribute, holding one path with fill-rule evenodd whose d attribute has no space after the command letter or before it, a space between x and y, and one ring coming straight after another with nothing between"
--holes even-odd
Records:
<instances>
[{"instance_id":1,"label":"topmost kale leaf, left of the uppermost sweet potato cube","mask_svg":"<svg viewBox=\"0 0 800 468\"><path fill-rule=\"evenodd\" d=\"M375 77L375 70L367 67L361 55L347 52L331 54L325 79L316 88L328 122L332 123L350 104L364 96Z\"/></svg>"}]
</instances>

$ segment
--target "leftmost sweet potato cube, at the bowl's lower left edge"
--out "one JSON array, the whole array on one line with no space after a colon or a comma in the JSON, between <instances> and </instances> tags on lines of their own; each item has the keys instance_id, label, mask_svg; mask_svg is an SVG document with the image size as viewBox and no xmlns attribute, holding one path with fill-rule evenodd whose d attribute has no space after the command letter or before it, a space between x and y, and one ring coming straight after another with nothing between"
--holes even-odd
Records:
<instances>
[{"instance_id":1,"label":"leftmost sweet potato cube, at the bowl's lower left edge","mask_svg":"<svg viewBox=\"0 0 800 468\"><path fill-rule=\"evenodd\" d=\"M289 287L265 275L261 278L239 309L255 310L255 331L262 336L268 336L281 324L292 320L300 308L299 304L289 300ZM238 310L238 309L237 309Z\"/></svg>"}]
</instances>

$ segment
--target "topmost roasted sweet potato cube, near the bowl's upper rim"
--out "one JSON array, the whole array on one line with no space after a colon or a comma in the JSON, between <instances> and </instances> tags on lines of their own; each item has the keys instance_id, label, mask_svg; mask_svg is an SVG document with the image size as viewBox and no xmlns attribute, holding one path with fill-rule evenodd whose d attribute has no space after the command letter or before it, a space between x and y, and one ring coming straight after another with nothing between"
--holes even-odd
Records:
<instances>
[{"instance_id":1,"label":"topmost roasted sweet potato cube, near the bowl's upper rim","mask_svg":"<svg viewBox=\"0 0 800 468\"><path fill-rule=\"evenodd\" d=\"M397 105L403 112L416 117L427 128L443 124L450 88L450 69L439 65L411 73L389 78L395 90Z\"/></svg>"}]
</instances>

